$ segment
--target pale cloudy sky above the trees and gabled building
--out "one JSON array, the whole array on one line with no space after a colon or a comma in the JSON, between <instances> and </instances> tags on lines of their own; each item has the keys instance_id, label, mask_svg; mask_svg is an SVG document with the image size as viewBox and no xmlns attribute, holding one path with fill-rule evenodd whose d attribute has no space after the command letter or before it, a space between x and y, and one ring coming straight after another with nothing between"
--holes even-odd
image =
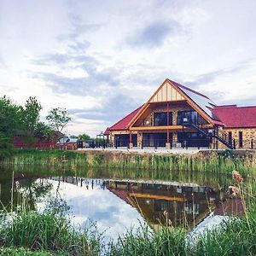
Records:
<instances>
[{"instance_id":1,"label":"pale cloudy sky above the trees and gabled building","mask_svg":"<svg viewBox=\"0 0 256 256\"><path fill-rule=\"evenodd\" d=\"M96 135L166 79L256 105L256 1L0 0L0 96Z\"/></svg>"}]
</instances>

